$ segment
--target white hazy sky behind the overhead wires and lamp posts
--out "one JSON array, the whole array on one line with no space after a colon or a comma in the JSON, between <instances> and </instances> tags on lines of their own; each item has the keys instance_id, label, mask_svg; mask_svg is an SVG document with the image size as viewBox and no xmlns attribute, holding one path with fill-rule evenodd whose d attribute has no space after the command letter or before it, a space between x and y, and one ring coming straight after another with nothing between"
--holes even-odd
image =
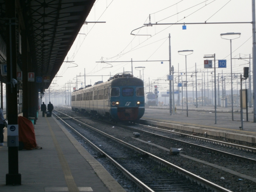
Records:
<instances>
[{"instance_id":1,"label":"white hazy sky behind the overhead wires and lamp posts","mask_svg":"<svg viewBox=\"0 0 256 192\"><path fill-rule=\"evenodd\" d=\"M175 76L178 75L178 63L180 72L185 72L185 56L179 55L179 50L194 50L193 54L187 56L188 77L191 75L189 72L195 71L195 63L199 71L207 71L204 69L203 56L214 53L217 60L227 59L227 68L223 69L223 73L230 74L230 42L221 39L221 33L241 33L240 38L232 41L233 58L238 58L239 54L240 57L249 57L249 54L252 56L252 24L187 25L186 30L182 30L182 25L154 25L133 31L134 34L151 35L151 37L130 35L132 30L149 22L149 14L151 23L250 22L252 21L252 1L96 0L87 21L106 21L106 23L90 23L81 28L79 33L86 35L77 36L66 57L66 61L72 60L78 67L73 67L75 64L72 63L63 63L57 74L63 77L54 78L52 83L56 84L52 84L51 89L63 89L62 87L69 80L75 82L76 75L84 75L84 68L86 85L101 81L101 75L110 73L115 75L122 73L123 70L131 71L131 62L111 63L111 61L130 61L131 58L134 61L169 60L169 33L171 34L171 62ZM108 61L109 64L96 63L101 60ZM247 63L244 60L233 60L233 73L242 73L243 67L249 67ZM163 79L159 81L159 89L161 91L168 89L169 86L165 82L166 75L169 74L168 61L164 61L164 64L133 62L133 75L139 76L140 72L134 67L145 67L145 84L148 84L148 78L150 82L159 78ZM216 69L217 74L221 71ZM201 76L201 73L198 73L198 76ZM103 81L107 81L108 78L109 76L103 76ZM185 79L185 76L183 78ZM210 79L209 76L209 81ZM78 81L78 88L81 87L81 83L84 87L84 77L79 77ZM230 79L227 79L226 83L226 89L229 89Z\"/></svg>"}]
</instances>

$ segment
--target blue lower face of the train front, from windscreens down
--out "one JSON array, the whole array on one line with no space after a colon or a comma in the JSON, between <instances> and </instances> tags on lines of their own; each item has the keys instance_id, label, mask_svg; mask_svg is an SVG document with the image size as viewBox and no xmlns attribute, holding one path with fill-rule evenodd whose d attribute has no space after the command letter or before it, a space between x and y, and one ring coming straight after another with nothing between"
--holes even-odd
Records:
<instances>
[{"instance_id":1,"label":"blue lower face of the train front, from windscreens down","mask_svg":"<svg viewBox=\"0 0 256 192\"><path fill-rule=\"evenodd\" d=\"M110 115L117 121L136 121L145 112L143 86L112 87L110 92Z\"/></svg>"}]
</instances>

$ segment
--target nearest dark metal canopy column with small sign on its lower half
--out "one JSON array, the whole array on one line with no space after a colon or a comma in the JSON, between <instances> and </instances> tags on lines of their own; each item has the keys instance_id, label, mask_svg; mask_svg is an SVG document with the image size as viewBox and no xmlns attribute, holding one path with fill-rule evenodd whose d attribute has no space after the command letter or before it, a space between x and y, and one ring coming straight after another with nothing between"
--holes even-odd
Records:
<instances>
[{"instance_id":1,"label":"nearest dark metal canopy column with small sign on its lower half","mask_svg":"<svg viewBox=\"0 0 256 192\"><path fill-rule=\"evenodd\" d=\"M17 85L12 84L12 79L17 79L17 58L16 58L16 12L15 0L5 1L6 7L6 60L7 60L7 84L6 100L8 109L8 123L10 125L18 124L18 103L17 103ZM18 128L18 127L17 127ZM7 133L8 134L8 133ZM12 137L15 137L12 138ZM7 136L8 143L8 173L6 174L6 185L21 185L21 174L19 173L18 144L17 136ZM11 139L14 140L14 146L10 147ZM17 143L18 142L18 143Z\"/></svg>"}]
</instances>

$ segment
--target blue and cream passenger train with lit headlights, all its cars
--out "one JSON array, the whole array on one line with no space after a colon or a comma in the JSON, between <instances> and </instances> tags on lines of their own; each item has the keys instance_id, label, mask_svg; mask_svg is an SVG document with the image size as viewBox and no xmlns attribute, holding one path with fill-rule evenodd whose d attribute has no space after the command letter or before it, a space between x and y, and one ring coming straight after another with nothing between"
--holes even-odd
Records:
<instances>
[{"instance_id":1,"label":"blue and cream passenger train with lit headlights, all its cars","mask_svg":"<svg viewBox=\"0 0 256 192\"><path fill-rule=\"evenodd\" d=\"M116 74L107 82L74 91L71 107L109 120L135 122L145 112L144 83L130 73Z\"/></svg>"}]
</instances>

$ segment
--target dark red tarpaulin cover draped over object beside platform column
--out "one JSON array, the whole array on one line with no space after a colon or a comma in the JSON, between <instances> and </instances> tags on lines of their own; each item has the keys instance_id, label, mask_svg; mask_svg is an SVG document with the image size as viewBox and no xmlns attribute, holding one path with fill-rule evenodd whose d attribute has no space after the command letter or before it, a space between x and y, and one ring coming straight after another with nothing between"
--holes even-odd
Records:
<instances>
[{"instance_id":1,"label":"dark red tarpaulin cover draped over object beside platform column","mask_svg":"<svg viewBox=\"0 0 256 192\"><path fill-rule=\"evenodd\" d=\"M36 136L33 123L23 116L18 117L19 141L24 143L24 149L36 148Z\"/></svg>"}]
</instances>

